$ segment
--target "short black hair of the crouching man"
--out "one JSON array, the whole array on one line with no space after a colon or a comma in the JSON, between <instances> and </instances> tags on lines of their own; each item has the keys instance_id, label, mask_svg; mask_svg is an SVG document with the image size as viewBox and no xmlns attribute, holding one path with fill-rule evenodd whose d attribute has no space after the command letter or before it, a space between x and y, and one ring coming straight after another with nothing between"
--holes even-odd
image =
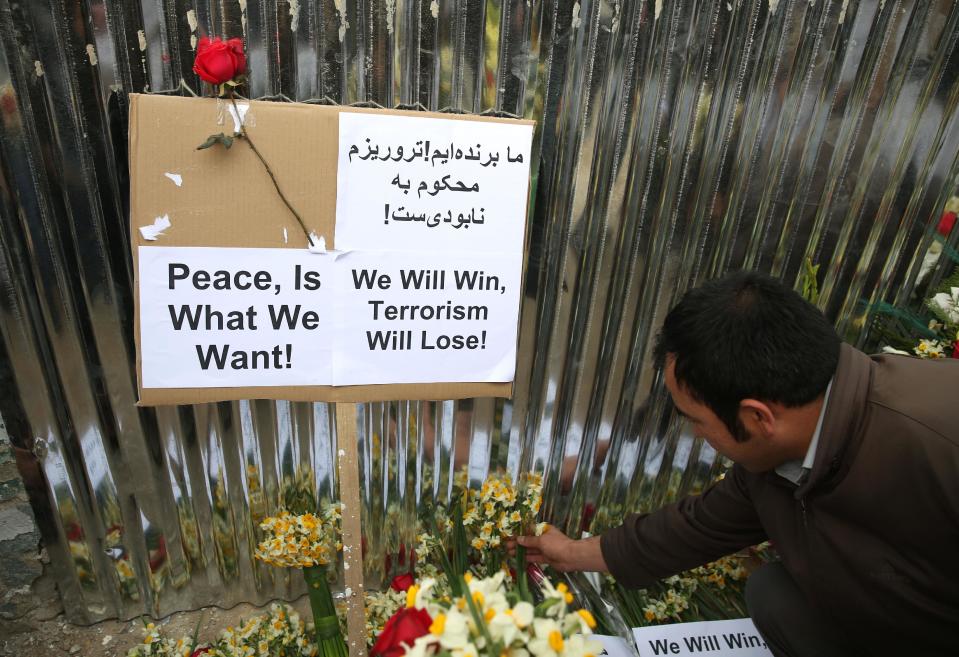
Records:
<instances>
[{"instance_id":1,"label":"short black hair of the crouching man","mask_svg":"<svg viewBox=\"0 0 959 657\"><path fill-rule=\"evenodd\" d=\"M671 356L676 381L745 440L739 403L814 401L836 372L840 344L832 324L796 291L739 271L683 296L663 322L655 357L662 367Z\"/></svg>"}]
</instances>

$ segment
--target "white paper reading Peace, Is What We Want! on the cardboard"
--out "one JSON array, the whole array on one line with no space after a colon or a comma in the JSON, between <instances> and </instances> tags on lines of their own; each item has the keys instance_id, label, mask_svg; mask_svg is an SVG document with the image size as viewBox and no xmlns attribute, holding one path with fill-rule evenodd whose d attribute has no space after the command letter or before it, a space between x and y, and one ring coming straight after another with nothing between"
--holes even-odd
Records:
<instances>
[{"instance_id":1,"label":"white paper reading Peace, Is What We Want! on the cardboard","mask_svg":"<svg viewBox=\"0 0 959 657\"><path fill-rule=\"evenodd\" d=\"M333 258L141 246L144 388L330 385Z\"/></svg>"}]
</instances>

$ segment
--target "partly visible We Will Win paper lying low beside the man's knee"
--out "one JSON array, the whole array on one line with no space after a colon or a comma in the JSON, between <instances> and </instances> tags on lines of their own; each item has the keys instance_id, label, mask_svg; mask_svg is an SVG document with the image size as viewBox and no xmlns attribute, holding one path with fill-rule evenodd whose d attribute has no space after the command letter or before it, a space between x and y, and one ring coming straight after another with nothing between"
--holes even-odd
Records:
<instances>
[{"instance_id":1,"label":"partly visible We Will Win paper lying low beside the man's knee","mask_svg":"<svg viewBox=\"0 0 959 657\"><path fill-rule=\"evenodd\" d=\"M770 657L756 626L749 618L634 627L642 657L656 655L709 655L709 657Z\"/></svg>"}]
</instances>

